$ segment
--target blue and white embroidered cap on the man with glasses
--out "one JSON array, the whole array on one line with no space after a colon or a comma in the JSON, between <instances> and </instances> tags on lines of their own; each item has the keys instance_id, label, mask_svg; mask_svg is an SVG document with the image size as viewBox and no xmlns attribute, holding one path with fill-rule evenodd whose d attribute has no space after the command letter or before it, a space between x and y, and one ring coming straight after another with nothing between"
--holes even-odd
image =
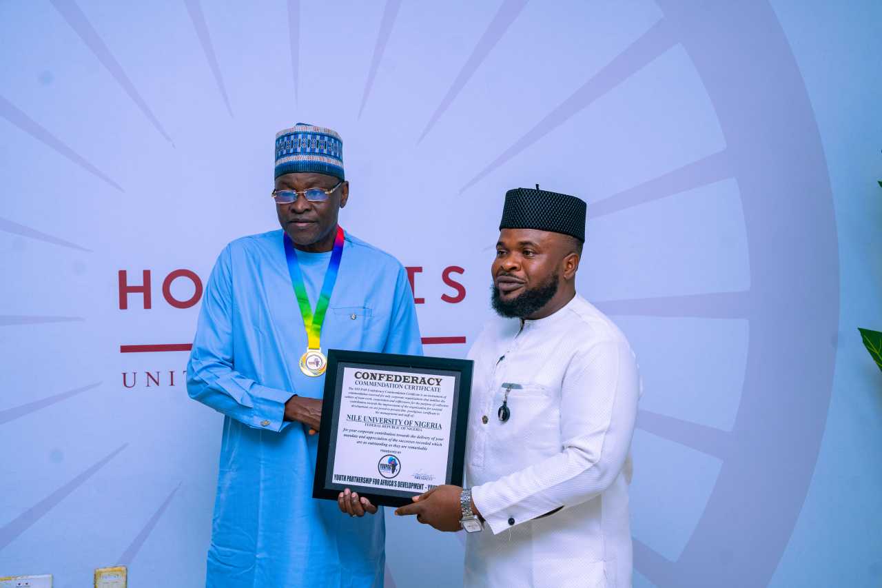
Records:
<instances>
[{"instance_id":1,"label":"blue and white embroidered cap on the man with glasses","mask_svg":"<svg viewBox=\"0 0 882 588\"><path fill-rule=\"evenodd\" d=\"M323 126L297 123L276 133L275 177L313 172L343 177L343 141Z\"/></svg>"}]
</instances>

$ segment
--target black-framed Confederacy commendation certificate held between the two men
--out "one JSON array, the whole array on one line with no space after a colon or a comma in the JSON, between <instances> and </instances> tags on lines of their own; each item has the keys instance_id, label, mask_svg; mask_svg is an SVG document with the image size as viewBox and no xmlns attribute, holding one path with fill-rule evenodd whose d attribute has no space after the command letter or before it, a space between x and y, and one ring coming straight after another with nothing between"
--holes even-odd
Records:
<instances>
[{"instance_id":1,"label":"black-framed Confederacy commendation certificate held between the two men","mask_svg":"<svg viewBox=\"0 0 882 588\"><path fill-rule=\"evenodd\" d=\"M313 498L402 506L462 486L472 361L328 351Z\"/></svg>"}]
</instances>

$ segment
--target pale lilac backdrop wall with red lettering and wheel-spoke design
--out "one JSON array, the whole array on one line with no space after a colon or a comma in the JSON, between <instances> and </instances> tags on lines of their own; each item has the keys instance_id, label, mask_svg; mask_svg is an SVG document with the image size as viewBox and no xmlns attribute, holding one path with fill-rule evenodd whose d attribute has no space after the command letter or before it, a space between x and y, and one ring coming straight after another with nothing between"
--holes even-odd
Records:
<instances>
[{"instance_id":1,"label":"pale lilac backdrop wall with red lettering and wheel-spoke design","mask_svg":"<svg viewBox=\"0 0 882 588\"><path fill-rule=\"evenodd\" d=\"M853 10L841 26L879 16ZM797 522L856 325L803 19L759 0L0 4L0 575L204 582L221 416L187 397L186 351L139 346L191 342L217 253L276 227L274 133L307 122L342 135L342 224L412 268L432 355L463 357L488 316L505 190L587 200L579 290L646 382L635 584L811 576L785 554L826 546ZM862 479L858 506L882 486ZM388 585L460 584L460 534L388 523ZM849 585L882 575L856 543Z\"/></svg>"}]
</instances>

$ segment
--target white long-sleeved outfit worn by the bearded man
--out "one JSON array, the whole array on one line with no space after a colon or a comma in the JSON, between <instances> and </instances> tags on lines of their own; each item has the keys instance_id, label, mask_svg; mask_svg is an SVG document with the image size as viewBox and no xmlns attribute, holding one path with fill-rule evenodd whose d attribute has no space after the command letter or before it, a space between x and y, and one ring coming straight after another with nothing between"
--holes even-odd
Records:
<instances>
[{"instance_id":1,"label":"white long-sleeved outfit worn by the bearded man","mask_svg":"<svg viewBox=\"0 0 882 588\"><path fill-rule=\"evenodd\" d=\"M490 321L468 357L466 477L486 525L467 536L465 585L630 586L641 386L622 332L577 295L541 320ZM504 384L520 388L502 422Z\"/></svg>"}]
</instances>

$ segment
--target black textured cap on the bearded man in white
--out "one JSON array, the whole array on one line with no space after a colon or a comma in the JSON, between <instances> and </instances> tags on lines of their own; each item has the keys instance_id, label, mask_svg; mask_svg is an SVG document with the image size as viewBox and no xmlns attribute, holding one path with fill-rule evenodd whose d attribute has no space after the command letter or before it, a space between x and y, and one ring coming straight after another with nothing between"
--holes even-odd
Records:
<instances>
[{"instance_id":1,"label":"black textured cap on the bearded man in white","mask_svg":"<svg viewBox=\"0 0 882 588\"><path fill-rule=\"evenodd\" d=\"M585 240L585 200L533 188L515 188L505 192L502 209L503 229L537 229L563 233Z\"/></svg>"}]
</instances>

